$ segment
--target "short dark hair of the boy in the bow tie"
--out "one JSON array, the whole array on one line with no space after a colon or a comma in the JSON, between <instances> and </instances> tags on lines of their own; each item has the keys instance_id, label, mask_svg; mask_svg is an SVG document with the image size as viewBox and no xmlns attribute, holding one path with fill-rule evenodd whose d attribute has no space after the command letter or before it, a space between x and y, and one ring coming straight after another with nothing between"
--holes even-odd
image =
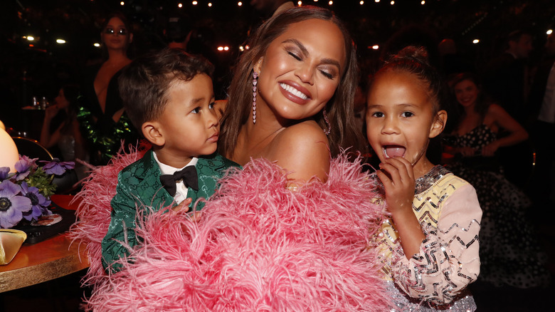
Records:
<instances>
[{"instance_id":1,"label":"short dark hair of the boy in the bow tie","mask_svg":"<svg viewBox=\"0 0 555 312\"><path fill-rule=\"evenodd\" d=\"M125 113L140 132L143 123L164 112L169 100L167 91L174 80L190 81L200 73L212 78L213 71L213 65L202 56L175 48L139 56L117 80Z\"/></svg>"}]
</instances>

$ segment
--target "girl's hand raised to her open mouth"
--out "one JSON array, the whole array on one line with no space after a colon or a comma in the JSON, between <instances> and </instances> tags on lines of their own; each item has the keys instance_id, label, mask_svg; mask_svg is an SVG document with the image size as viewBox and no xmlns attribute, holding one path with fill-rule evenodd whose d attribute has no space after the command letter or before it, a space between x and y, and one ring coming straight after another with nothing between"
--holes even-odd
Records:
<instances>
[{"instance_id":1,"label":"girl's hand raised to her open mouth","mask_svg":"<svg viewBox=\"0 0 555 312\"><path fill-rule=\"evenodd\" d=\"M412 213L416 182L411 163L403 157L388 158L380 164L380 168L376 174L386 189L389 212L393 217L398 212Z\"/></svg>"}]
</instances>

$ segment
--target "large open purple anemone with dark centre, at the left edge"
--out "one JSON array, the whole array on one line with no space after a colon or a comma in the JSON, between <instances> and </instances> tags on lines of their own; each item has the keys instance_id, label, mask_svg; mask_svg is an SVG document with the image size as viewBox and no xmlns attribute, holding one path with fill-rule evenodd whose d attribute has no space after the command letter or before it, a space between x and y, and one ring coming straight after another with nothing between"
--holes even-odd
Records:
<instances>
[{"instance_id":1,"label":"large open purple anemone with dark centre, at the left edge","mask_svg":"<svg viewBox=\"0 0 555 312\"><path fill-rule=\"evenodd\" d=\"M31 210L31 199L18 195L21 187L9 180L0 183L0 227L14 227Z\"/></svg>"}]
</instances>

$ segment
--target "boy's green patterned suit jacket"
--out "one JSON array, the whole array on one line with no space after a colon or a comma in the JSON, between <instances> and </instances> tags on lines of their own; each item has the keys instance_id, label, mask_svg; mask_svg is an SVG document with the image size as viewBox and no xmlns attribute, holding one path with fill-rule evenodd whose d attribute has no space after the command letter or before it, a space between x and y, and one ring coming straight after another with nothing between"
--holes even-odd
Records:
<instances>
[{"instance_id":1,"label":"boy's green patterned suit jacket","mask_svg":"<svg viewBox=\"0 0 555 312\"><path fill-rule=\"evenodd\" d=\"M208 199L218 187L217 181L223 176L228 167L240 167L235 162L221 155L199 157L196 163L199 176L199 190L189 187L187 198L191 198L190 211L199 198ZM135 235L135 219L137 211L145 214L158 211L164 207L176 206L174 197L162 187L160 182L160 167L154 160L152 150L149 150L140 160L125 167L117 175L116 194L112 198L112 219L104 239L102 239L102 265L105 269L112 266L112 271L119 271L120 264L113 264L117 259L128 256L129 251L122 242L127 236L127 244L138 244ZM204 202L199 202L196 209L201 209ZM113 264L113 265L112 265Z\"/></svg>"}]
</instances>

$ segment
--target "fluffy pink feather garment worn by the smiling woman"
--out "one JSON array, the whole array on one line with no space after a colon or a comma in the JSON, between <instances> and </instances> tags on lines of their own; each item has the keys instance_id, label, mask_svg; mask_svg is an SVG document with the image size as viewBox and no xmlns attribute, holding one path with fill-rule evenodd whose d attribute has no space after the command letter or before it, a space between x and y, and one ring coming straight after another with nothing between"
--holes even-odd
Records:
<instances>
[{"instance_id":1,"label":"fluffy pink feather garment worn by the smiling woman","mask_svg":"<svg viewBox=\"0 0 555 312\"><path fill-rule=\"evenodd\" d=\"M332 160L326 183L285 189L286 172L253 160L222 180L192 222L167 209L137 229L144 239L125 269L108 276L100 242L116 175L143 152L93 173L73 236L87 245L96 311L385 311L388 298L370 237L384 209L360 166ZM166 213L164 213L166 212Z\"/></svg>"}]
</instances>

